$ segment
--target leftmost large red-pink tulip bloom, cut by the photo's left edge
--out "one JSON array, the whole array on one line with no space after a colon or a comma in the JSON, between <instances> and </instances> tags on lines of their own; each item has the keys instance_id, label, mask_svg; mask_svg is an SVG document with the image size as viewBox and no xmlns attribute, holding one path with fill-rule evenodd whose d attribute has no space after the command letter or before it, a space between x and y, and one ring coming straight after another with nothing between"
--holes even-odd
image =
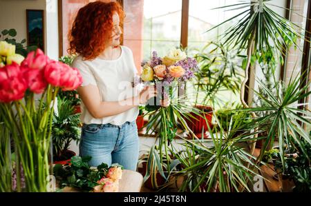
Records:
<instances>
[{"instance_id":1,"label":"leftmost large red-pink tulip bloom, cut by the photo's left edge","mask_svg":"<svg viewBox=\"0 0 311 206\"><path fill-rule=\"evenodd\" d=\"M0 68L0 102L23 99L26 90L27 83L17 63Z\"/></svg>"}]
</instances>

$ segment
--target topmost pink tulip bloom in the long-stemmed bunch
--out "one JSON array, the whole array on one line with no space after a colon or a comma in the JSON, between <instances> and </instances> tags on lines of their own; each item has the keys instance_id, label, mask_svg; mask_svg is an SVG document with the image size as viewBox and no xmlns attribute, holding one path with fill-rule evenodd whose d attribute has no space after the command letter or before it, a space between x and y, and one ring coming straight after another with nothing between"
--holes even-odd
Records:
<instances>
[{"instance_id":1,"label":"topmost pink tulip bloom in the long-stemmed bunch","mask_svg":"<svg viewBox=\"0 0 311 206\"><path fill-rule=\"evenodd\" d=\"M37 49L36 51L29 52L26 59L21 62L21 66L41 70L49 62L48 56L44 55L44 52L40 49Z\"/></svg>"}]
</instances>

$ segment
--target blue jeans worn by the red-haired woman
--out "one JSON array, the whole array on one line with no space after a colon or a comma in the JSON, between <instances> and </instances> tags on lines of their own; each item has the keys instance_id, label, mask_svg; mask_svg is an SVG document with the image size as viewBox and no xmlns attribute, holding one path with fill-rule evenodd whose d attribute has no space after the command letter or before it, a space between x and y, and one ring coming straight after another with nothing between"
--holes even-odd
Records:
<instances>
[{"instance_id":1,"label":"blue jeans worn by the red-haired woman","mask_svg":"<svg viewBox=\"0 0 311 206\"><path fill-rule=\"evenodd\" d=\"M136 122L123 125L84 124L79 144L80 156L91 156L90 166L118 163L124 169L136 171L139 138Z\"/></svg>"}]
</instances>

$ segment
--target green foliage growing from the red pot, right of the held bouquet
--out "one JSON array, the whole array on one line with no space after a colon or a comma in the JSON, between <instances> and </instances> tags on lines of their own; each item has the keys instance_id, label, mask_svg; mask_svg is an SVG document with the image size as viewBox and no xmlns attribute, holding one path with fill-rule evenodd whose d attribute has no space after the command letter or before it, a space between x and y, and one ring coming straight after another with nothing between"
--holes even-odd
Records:
<instances>
[{"instance_id":1,"label":"green foliage growing from the red pot, right of the held bouquet","mask_svg":"<svg viewBox=\"0 0 311 206\"><path fill-rule=\"evenodd\" d=\"M196 54L199 70L196 72L196 102L203 105L222 105L219 92L229 90L238 92L241 78L241 56L225 48L221 43L210 42ZM203 99L198 99L199 92Z\"/></svg>"}]
</instances>

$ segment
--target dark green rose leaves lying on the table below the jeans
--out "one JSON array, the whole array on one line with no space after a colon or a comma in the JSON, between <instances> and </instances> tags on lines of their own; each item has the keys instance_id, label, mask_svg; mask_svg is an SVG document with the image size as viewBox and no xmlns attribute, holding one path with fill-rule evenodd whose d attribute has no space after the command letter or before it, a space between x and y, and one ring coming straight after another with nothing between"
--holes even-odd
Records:
<instances>
[{"instance_id":1,"label":"dark green rose leaves lying on the table below the jeans","mask_svg":"<svg viewBox=\"0 0 311 206\"><path fill-rule=\"evenodd\" d=\"M81 189L83 192L90 192L93 187L100 185L97 181L100 181L103 176L106 176L111 167L122 167L117 164L109 167L105 163L102 163L96 168L91 168L88 166L88 161L90 160L91 156L73 156L70 161L71 165L55 165L54 174L60 181L60 187L75 187Z\"/></svg>"}]
</instances>

